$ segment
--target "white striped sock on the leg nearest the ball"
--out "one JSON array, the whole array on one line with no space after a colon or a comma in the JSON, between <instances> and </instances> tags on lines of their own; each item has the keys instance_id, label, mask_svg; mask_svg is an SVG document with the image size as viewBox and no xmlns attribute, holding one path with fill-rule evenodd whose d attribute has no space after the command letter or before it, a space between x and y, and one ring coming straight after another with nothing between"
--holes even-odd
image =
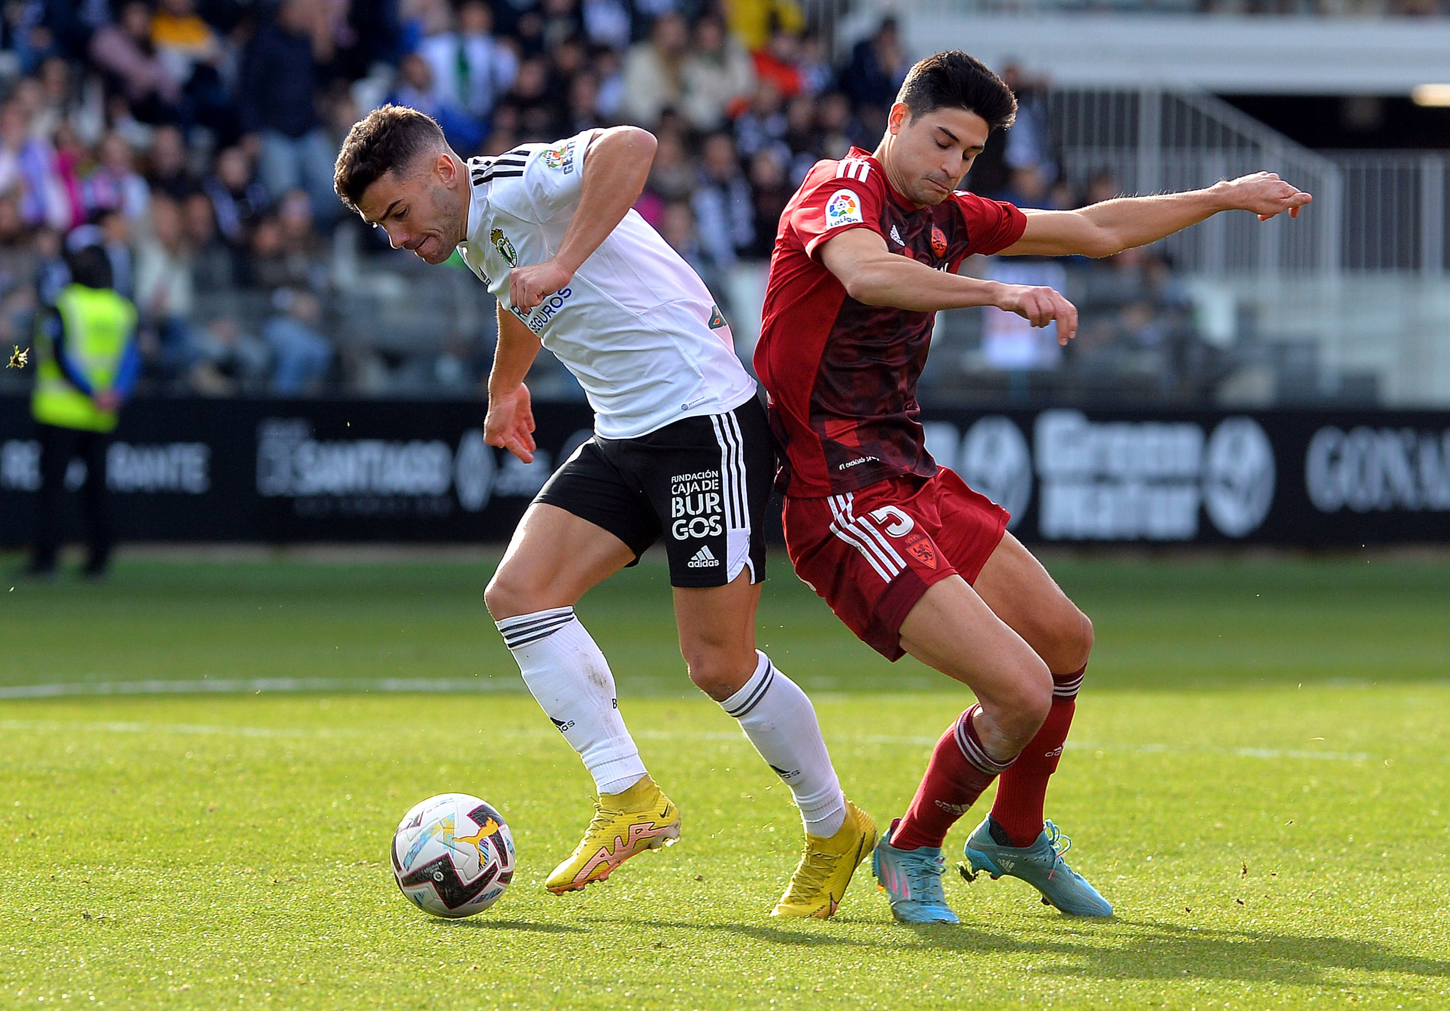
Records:
<instances>
[{"instance_id":1,"label":"white striped sock on the leg nearest the ball","mask_svg":"<svg viewBox=\"0 0 1450 1011\"><path fill-rule=\"evenodd\" d=\"M645 775L625 728L615 676L573 608L551 608L497 622L519 673L544 714L579 751L600 793L622 793Z\"/></svg>"}]
</instances>

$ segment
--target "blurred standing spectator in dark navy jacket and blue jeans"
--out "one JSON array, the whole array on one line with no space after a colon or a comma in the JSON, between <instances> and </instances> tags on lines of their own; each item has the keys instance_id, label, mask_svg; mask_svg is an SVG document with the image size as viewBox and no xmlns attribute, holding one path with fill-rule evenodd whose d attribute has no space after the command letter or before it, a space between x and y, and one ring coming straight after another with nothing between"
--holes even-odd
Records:
<instances>
[{"instance_id":1,"label":"blurred standing spectator in dark navy jacket and blue jeans","mask_svg":"<svg viewBox=\"0 0 1450 1011\"><path fill-rule=\"evenodd\" d=\"M310 0L281 0L246 46L238 97L242 131L258 138L267 193L277 199L302 187L313 213L331 220L341 212L332 193L336 152L315 104L319 55L331 55L331 41L318 29Z\"/></svg>"}]
</instances>

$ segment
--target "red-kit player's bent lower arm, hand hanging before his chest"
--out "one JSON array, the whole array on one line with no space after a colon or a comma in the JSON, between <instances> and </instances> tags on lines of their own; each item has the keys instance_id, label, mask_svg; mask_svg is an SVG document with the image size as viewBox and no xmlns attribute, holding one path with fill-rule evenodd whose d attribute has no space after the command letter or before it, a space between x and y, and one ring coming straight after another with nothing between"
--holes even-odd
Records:
<instances>
[{"instance_id":1,"label":"red-kit player's bent lower arm, hand hanging before his chest","mask_svg":"<svg viewBox=\"0 0 1450 1011\"><path fill-rule=\"evenodd\" d=\"M914 312L996 306L1015 312L1032 326L1057 322L1057 341L1077 332L1077 309L1050 287L1003 284L947 274L893 254L886 241L864 228L841 232L821 247L821 263L845 286L845 293L869 306Z\"/></svg>"}]
</instances>

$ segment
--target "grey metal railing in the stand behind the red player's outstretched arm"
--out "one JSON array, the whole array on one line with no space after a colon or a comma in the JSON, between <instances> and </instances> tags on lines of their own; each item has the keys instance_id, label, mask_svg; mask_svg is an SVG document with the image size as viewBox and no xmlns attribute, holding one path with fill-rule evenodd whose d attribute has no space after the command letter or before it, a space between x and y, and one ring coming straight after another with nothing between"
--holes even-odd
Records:
<instances>
[{"instance_id":1,"label":"grey metal railing in the stand behind the red player's outstretched arm","mask_svg":"<svg viewBox=\"0 0 1450 1011\"><path fill-rule=\"evenodd\" d=\"M1056 90L1045 109L1063 170L1079 186L1111 173L1119 191L1156 193L1263 170L1314 194L1292 222L1217 216L1164 239L1160 248L1180 270L1438 277L1450 263L1450 154L1315 152L1208 94Z\"/></svg>"}]
</instances>

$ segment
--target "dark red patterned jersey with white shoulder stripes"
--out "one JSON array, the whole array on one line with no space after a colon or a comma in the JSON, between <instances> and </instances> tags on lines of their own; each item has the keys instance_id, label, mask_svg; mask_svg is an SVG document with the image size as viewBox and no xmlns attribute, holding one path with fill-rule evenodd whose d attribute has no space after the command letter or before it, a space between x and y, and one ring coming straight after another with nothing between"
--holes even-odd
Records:
<instances>
[{"instance_id":1,"label":"dark red patterned jersey with white shoulder stripes","mask_svg":"<svg viewBox=\"0 0 1450 1011\"><path fill-rule=\"evenodd\" d=\"M853 228L871 229L892 252L956 273L966 257L1022 238L1027 218L973 193L918 207L860 148L816 162L780 216L755 347L770 425L786 453L777 487L798 498L937 473L916 421L916 380L935 313L869 306L845 293L816 249Z\"/></svg>"}]
</instances>

